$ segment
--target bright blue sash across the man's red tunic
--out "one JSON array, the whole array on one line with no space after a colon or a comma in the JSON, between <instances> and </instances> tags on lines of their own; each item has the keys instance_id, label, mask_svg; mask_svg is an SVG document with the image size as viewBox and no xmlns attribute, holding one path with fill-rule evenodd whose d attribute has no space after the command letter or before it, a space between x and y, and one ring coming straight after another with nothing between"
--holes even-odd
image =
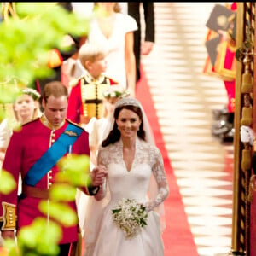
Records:
<instances>
[{"instance_id":1,"label":"bright blue sash across the man's red tunic","mask_svg":"<svg viewBox=\"0 0 256 256\"><path fill-rule=\"evenodd\" d=\"M35 186L55 166L56 162L68 152L68 148L72 147L82 131L83 129L79 126L67 125L66 130L61 136L26 173L23 183L29 186Z\"/></svg>"}]
</instances>

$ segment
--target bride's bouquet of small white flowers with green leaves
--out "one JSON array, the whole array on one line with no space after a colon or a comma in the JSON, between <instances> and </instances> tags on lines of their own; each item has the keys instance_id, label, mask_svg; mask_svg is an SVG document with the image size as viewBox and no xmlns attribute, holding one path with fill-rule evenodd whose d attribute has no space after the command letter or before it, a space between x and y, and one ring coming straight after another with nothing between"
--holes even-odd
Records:
<instances>
[{"instance_id":1,"label":"bride's bouquet of small white flowers with green leaves","mask_svg":"<svg viewBox=\"0 0 256 256\"><path fill-rule=\"evenodd\" d=\"M125 232L127 238L137 235L137 233L147 225L148 213L146 207L137 203L134 199L121 199L112 210L113 222Z\"/></svg>"}]
</instances>

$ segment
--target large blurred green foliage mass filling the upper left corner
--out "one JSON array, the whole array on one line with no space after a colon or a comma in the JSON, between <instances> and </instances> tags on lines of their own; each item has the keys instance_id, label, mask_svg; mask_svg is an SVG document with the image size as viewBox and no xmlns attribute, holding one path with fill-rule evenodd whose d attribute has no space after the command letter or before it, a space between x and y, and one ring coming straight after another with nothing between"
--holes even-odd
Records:
<instances>
[{"instance_id":1,"label":"large blurred green foliage mass filling the upper left corner","mask_svg":"<svg viewBox=\"0 0 256 256\"><path fill-rule=\"evenodd\" d=\"M10 79L14 85L19 79L29 85L52 75L47 66L49 50L68 50L62 44L64 36L86 35L88 19L50 2L15 6L20 19L10 17L0 23L0 84Z\"/></svg>"}]
</instances>

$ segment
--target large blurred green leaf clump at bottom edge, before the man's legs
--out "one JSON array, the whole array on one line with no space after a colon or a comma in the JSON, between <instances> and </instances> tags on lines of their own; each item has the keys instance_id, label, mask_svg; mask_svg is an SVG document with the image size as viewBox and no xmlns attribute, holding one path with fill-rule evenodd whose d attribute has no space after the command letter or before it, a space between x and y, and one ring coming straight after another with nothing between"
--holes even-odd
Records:
<instances>
[{"instance_id":1,"label":"large blurred green leaf clump at bottom edge, before the man's legs","mask_svg":"<svg viewBox=\"0 0 256 256\"><path fill-rule=\"evenodd\" d=\"M22 255L57 255L61 241L61 227L45 218L36 218L18 233L18 247Z\"/></svg>"}]
</instances>

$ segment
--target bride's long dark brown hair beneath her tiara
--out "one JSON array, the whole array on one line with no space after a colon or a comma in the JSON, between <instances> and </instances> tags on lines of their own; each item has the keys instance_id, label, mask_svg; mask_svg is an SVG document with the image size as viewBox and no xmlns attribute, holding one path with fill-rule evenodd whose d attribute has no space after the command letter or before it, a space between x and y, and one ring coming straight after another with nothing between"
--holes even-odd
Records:
<instances>
[{"instance_id":1,"label":"bride's long dark brown hair beneath her tiara","mask_svg":"<svg viewBox=\"0 0 256 256\"><path fill-rule=\"evenodd\" d=\"M142 121L139 130L137 131L137 136L140 137L145 141L145 131L143 130L143 112L141 108L133 105L121 105L117 108L115 108L113 117L114 117L114 123L113 123L113 129L109 132L108 137L103 140L102 142L102 147L107 147L109 144L116 143L119 141L121 134L118 129L118 125L116 124L116 119L119 118L119 113L122 109L128 109L131 110L132 112L136 113L139 119Z\"/></svg>"}]
</instances>

